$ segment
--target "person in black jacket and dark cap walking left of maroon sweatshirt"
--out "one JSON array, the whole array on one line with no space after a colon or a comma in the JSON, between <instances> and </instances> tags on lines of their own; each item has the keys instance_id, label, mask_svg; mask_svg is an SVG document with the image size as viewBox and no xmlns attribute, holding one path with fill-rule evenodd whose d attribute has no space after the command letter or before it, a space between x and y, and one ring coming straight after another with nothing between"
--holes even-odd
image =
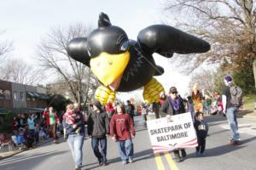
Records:
<instances>
[{"instance_id":1,"label":"person in black jacket and dark cap walking left of maroon sweatshirt","mask_svg":"<svg viewBox=\"0 0 256 170\"><path fill-rule=\"evenodd\" d=\"M88 134L91 136L91 146L99 165L107 165L107 138L109 135L109 119L106 112L102 111L99 101L93 104L93 111L88 117ZM99 150L101 145L101 151Z\"/></svg>"}]
</instances>

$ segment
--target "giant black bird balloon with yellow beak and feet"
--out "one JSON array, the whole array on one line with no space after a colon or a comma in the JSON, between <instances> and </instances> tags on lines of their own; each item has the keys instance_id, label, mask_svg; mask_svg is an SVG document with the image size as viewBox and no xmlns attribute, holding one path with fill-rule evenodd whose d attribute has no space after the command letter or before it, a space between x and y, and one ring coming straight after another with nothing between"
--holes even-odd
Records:
<instances>
[{"instance_id":1,"label":"giant black bird balloon with yellow beak and feet","mask_svg":"<svg viewBox=\"0 0 256 170\"><path fill-rule=\"evenodd\" d=\"M98 28L88 37L76 37L67 44L67 54L89 66L102 83L95 94L102 105L113 102L116 91L142 87L145 101L158 102L164 88L154 76L163 74L164 69L155 65L152 54L171 58L173 53L204 53L209 49L208 42L165 25L148 26L139 32L137 41L131 40L103 13Z\"/></svg>"}]
</instances>

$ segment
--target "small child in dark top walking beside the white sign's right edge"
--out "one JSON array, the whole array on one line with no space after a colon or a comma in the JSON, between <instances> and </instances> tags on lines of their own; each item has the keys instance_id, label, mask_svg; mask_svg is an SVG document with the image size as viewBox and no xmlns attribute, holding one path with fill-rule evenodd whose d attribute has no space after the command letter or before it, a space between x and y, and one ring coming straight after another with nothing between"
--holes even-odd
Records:
<instances>
[{"instance_id":1,"label":"small child in dark top walking beside the white sign's right edge","mask_svg":"<svg viewBox=\"0 0 256 170\"><path fill-rule=\"evenodd\" d=\"M196 155L203 155L206 149L206 138L208 133L207 122L204 121L204 116L202 112L195 113L195 123L194 123L198 146L196 147Z\"/></svg>"}]
</instances>

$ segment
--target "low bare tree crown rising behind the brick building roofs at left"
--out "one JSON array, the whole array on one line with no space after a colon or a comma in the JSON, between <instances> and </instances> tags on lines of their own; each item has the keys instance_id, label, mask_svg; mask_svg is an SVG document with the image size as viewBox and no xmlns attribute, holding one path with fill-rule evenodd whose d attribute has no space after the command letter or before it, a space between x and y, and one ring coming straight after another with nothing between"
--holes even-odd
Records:
<instances>
[{"instance_id":1,"label":"low bare tree crown rising behind the brick building roofs at left","mask_svg":"<svg viewBox=\"0 0 256 170\"><path fill-rule=\"evenodd\" d=\"M0 79L9 82L19 82L37 85L44 75L21 59L8 59L0 67Z\"/></svg>"}]
</instances>

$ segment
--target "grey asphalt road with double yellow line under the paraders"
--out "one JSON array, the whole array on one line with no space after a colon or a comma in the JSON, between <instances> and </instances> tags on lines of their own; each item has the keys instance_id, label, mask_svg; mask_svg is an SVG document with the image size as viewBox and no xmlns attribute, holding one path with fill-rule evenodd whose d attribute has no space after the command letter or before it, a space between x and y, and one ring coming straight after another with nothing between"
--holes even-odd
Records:
<instances>
[{"instance_id":1,"label":"grey asphalt road with double yellow line under the paraders","mask_svg":"<svg viewBox=\"0 0 256 170\"><path fill-rule=\"evenodd\" d=\"M140 170L251 170L256 169L256 119L239 118L242 143L228 144L230 129L223 116L208 116L209 134L205 156L195 156L195 149L187 149L187 158L175 162L173 153L155 155L150 148L148 131L141 117L136 117L137 135L133 140L135 158L133 163L123 165L116 144L108 139L108 166L99 167L90 147L90 139L84 140L82 169L140 169ZM0 161L0 170L72 170L73 159L66 142L44 144L34 150Z\"/></svg>"}]
</instances>

